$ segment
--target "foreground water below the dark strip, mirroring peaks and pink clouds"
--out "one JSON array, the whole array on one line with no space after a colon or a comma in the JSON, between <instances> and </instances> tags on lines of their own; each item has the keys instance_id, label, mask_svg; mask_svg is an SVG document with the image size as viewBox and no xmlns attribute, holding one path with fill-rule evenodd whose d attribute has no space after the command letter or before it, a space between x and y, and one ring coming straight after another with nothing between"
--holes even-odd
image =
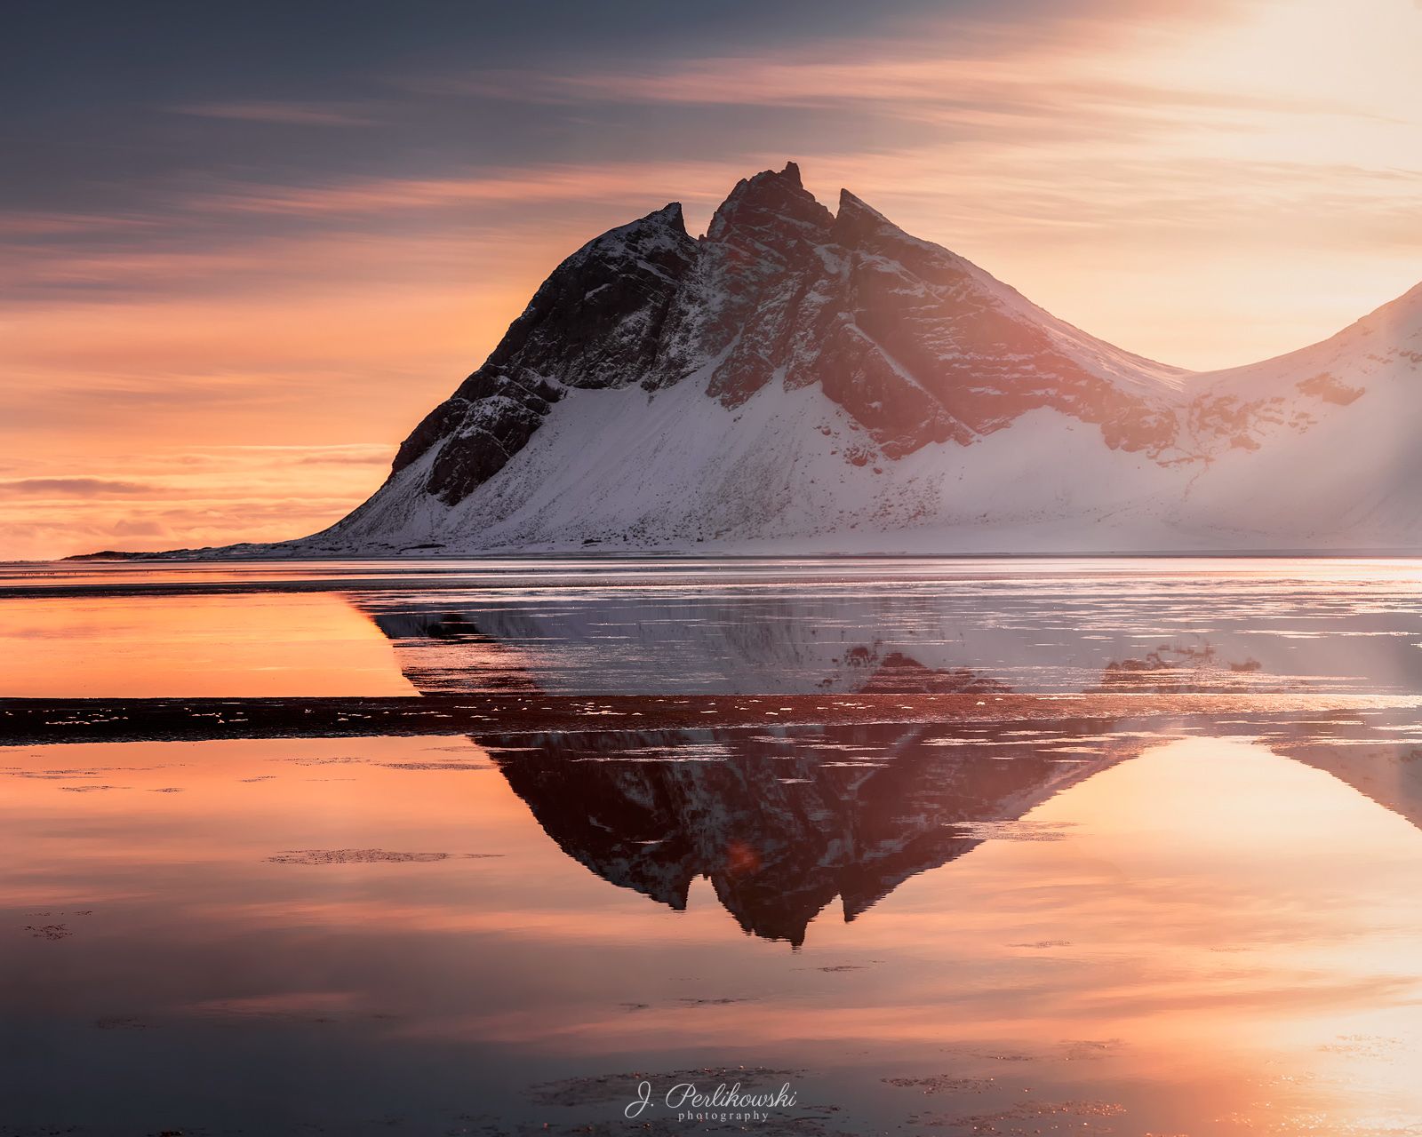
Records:
<instances>
[{"instance_id":1,"label":"foreground water below the dark strip, mirroring peaks and pink clouds","mask_svg":"<svg viewBox=\"0 0 1422 1137\"><path fill-rule=\"evenodd\" d=\"M731 1067L769 1131L1401 1137L1406 728L16 748L0 1133L599 1133Z\"/></svg>"}]
</instances>

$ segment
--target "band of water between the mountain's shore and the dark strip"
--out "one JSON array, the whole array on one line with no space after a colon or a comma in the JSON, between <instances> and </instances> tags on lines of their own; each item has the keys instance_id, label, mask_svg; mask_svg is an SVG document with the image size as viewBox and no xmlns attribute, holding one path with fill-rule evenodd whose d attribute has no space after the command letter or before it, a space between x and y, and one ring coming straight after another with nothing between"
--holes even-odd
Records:
<instances>
[{"instance_id":1,"label":"band of water between the mountain's shore and the dark strip","mask_svg":"<svg viewBox=\"0 0 1422 1137\"><path fill-rule=\"evenodd\" d=\"M0 596L17 696L1422 692L1411 561L137 563Z\"/></svg>"}]
</instances>

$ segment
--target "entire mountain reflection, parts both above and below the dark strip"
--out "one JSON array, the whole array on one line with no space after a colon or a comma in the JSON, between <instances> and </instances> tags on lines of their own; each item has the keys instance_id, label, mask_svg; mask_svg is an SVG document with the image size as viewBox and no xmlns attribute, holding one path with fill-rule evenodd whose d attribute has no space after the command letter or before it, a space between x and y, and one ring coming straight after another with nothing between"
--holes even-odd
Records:
<instances>
[{"instance_id":1,"label":"entire mountain reflection, parts both above and below the dark strip","mask_svg":"<svg viewBox=\"0 0 1422 1137\"><path fill-rule=\"evenodd\" d=\"M461 607L418 594L354 603L425 694L1263 695L1422 682L1422 631L1409 611L1307 583L894 581L791 594L592 590L557 603L488 596ZM674 910L705 877L745 932L799 945L830 901L852 921L909 877L977 847L983 823L1012 826L1059 790L1159 745L1159 723L1129 726L884 723L474 740L495 752L557 846L597 875ZM1277 753L1422 823L1422 736L1405 715L1295 713L1246 728L1196 719L1163 729L1258 732Z\"/></svg>"}]
</instances>

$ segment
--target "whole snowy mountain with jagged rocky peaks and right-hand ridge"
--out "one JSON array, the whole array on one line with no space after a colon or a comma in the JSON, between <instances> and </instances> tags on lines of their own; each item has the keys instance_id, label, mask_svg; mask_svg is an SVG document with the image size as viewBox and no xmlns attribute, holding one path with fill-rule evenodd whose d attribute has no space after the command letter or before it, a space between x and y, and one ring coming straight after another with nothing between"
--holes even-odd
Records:
<instances>
[{"instance_id":1,"label":"whole snowy mountain with jagged rocky peaks and right-hand ridge","mask_svg":"<svg viewBox=\"0 0 1422 1137\"><path fill-rule=\"evenodd\" d=\"M1189 372L799 169L565 260L331 529L232 554L1422 549L1422 286Z\"/></svg>"}]
</instances>

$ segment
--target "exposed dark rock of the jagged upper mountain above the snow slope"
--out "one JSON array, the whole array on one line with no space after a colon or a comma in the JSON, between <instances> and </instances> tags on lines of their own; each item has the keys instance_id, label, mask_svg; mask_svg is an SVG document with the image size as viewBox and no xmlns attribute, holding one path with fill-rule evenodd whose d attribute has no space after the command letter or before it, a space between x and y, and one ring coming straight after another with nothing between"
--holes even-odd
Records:
<instances>
[{"instance_id":1,"label":"exposed dark rock of the jagged upper mountain above the snow slope","mask_svg":"<svg viewBox=\"0 0 1422 1137\"><path fill-rule=\"evenodd\" d=\"M391 473L434 452L424 487L452 505L528 443L565 389L656 389L702 368L728 406L776 377L819 382L890 459L970 443L1042 406L1099 425L1111 446L1156 455L1176 441L1159 392L1094 374L1041 321L1051 317L848 190L830 213L789 162L737 183L701 240L668 205L565 260ZM865 465L870 451L846 460Z\"/></svg>"}]
</instances>

